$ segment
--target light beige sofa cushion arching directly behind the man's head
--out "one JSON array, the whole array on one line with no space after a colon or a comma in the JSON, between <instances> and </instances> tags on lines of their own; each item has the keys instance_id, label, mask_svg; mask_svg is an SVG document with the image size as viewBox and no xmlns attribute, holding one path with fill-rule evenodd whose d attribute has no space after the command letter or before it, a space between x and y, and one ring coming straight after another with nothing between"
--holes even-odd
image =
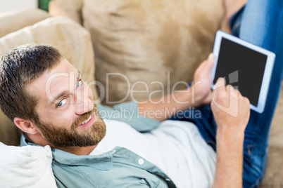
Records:
<instances>
[{"instance_id":1,"label":"light beige sofa cushion arching directly behind the man's head","mask_svg":"<svg viewBox=\"0 0 283 188\"><path fill-rule=\"evenodd\" d=\"M0 38L0 55L24 43L48 43L82 72L84 81L94 81L94 52L89 32L69 18L48 18L18 32ZM94 88L93 88L94 89ZM96 90L94 90L97 98ZM11 121L1 116L0 135L11 135ZM9 127L10 126L10 127ZM9 131L9 132L8 132ZM10 137L0 136L0 142L14 145Z\"/></svg>"}]
</instances>

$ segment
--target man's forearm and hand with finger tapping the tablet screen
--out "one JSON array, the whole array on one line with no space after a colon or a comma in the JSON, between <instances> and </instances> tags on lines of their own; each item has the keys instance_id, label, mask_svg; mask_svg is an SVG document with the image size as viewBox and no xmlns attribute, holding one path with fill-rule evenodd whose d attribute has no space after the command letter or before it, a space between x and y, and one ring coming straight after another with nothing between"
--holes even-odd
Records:
<instances>
[{"instance_id":1,"label":"man's forearm and hand with finger tapping the tablet screen","mask_svg":"<svg viewBox=\"0 0 283 188\"><path fill-rule=\"evenodd\" d=\"M249 99L225 79L218 79L211 102L218 126L217 162L213 187L242 187L244 130L249 121Z\"/></svg>"}]
</instances>

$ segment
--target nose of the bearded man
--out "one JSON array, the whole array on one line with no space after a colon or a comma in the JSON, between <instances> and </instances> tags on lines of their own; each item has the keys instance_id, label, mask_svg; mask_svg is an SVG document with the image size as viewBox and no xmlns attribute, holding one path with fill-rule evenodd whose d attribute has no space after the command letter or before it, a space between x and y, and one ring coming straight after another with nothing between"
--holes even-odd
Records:
<instances>
[{"instance_id":1,"label":"nose of the bearded man","mask_svg":"<svg viewBox=\"0 0 283 188\"><path fill-rule=\"evenodd\" d=\"M77 115L90 112L94 107L94 103L89 98L87 92L78 91L75 98L75 112Z\"/></svg>"}]
</instances>

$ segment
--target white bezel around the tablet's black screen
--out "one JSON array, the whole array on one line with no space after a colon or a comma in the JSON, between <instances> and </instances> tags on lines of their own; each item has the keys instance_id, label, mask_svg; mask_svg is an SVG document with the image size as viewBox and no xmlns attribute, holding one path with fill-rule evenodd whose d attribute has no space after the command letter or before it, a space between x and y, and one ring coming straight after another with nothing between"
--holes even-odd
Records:
<instances>
[{"instance_id":1,"label":"white bezel around the tablet's black screen","mask_svg":"<svg viewBox=\"0 0 283 188\"><path fill-rule=\"evenodd\" d=\"M213 66L212 69L212 77L213 77L213 81L215 79L215 72L216 72L216 67L217 67L217 63L218 63L218 55L219 55L219 51L220 51L220 45L221 45L221 41L222 39L229 39L230 41L234 41L235 43L239 43L242 46L246 46L247 48L251 48L253 51L257 51L258 53L263 53L264 55L267 55L267 62L265 65L265 71L263 74L263 81L261 83L261 87L260 87L260 95L258 98L258 105L254 106L254 105L250 105L250 108L253 109L254 111L258 112L258 113L263 113L264 108L265 108L265 102L268 98L268 89L270 86L270 79L272 76L272 70L273 70L273 66L274 66L274 62L275 62L275 53L272 53L268 50L265 50L264 48L260 48L256 45L253 45L251 43L248 43L246 41L243 41L239 38L237 38L236 36L232 36L231 34L227 34L225 32L222 31L218 31L216 32L216 36L215 36L215 42L214 42L214 47L213 47L213 54L215 55L215 65ZM212 83L211 88L214 89L214 83Z\"/></svg>"}]
</instances>

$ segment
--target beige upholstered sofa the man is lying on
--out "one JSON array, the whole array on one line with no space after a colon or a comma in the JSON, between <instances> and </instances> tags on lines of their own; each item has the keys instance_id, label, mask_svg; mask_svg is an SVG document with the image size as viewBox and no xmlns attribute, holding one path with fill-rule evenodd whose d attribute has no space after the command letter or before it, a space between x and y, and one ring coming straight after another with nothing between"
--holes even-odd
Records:
<instances>
[{"instance_id":1,"label":"beige upholstered sofa the man is lying on","mask_svg":"<svg viewBox=\"0 0 283 188\"><path fill-rule=\"evenodd\" d=\"M0 55L23 43L49 43L80 69L85 81L92 83L96 102L112 106L146 100L180 90L191 81L196 67L213 49L223 13L219 0L53 0L49 13L25 9L0 14ZM260 187L283 187L282 114L280 95ZM0 142L20 144L20 131L2 112ZM50 154L48 147L44 149ZM13 157L20 163L19 156L26 153L41 157L35 151L38 149L10 150L6 147L6 152L0 154L10 159L0 163L1 169L13 165ZM48 157L45 161L50 163ZM39 174L33 182L42 180L45 184L46 175Z\"/></svg>"}]
</instances>

